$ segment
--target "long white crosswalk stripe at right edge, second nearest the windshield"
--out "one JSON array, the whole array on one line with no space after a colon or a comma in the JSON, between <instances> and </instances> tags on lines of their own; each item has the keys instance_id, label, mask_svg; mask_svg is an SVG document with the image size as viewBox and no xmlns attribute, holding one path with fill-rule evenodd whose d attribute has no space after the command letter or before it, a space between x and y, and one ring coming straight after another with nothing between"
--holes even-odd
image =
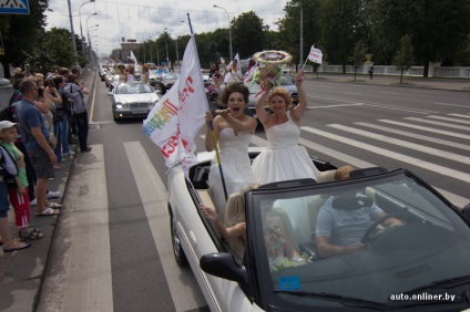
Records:
<instances>
[{"instance_id":1,"label":"long white crosswalk stripe at right edge, second nearest the windshield","mask_svg":"<svg viewBox=\"0 0 470 312\"><path fill-rule=\"evenodd\" d=\"M443 176L448 176L448 177L451 177L451 178L454 178L454 179L459 179L459 180L462 180L464 183L468 183L470 180L470 175L468 175L468 174L464 174L462 171L454 170L454 169L451 169L451 168L442 167L440 165L432 164L432 163L429 163L429 162L426 162L426 160L422 160L422 159L410 157L408 155L399 154L399 153L396 153L396 152L392 152L392 150L388 150L388 149L385 149L385 148L372 146L372 145L369 145L369 144L366 144L366 143L362 143L362 142L359 142L359 141L356 141L356 139L351 139L351 138L348 138L348 137L327 133L327 132L324 132L324 131L320 131L320 129L315 129L315 128L308 127L308 126L303 126L302 129L309 132L309 133L313 133L313 134L316 134L316 135L319 135L319 136L323 136L323 137L327 137L327 138L337 141L337 142L341 142L341 143L347 144L347 145L351 145L356 148L361 148L361 149L365 149L365 150L368 150L368 152L371 152L371 153L375 153L375 154L378 154L378 155L382 155L382 156L388 157L388 158L397 159L397 160L400 160L400 162L403 162L403 163L407 163L407 164L410 164L410 165L413 165L413 166L417 166L417 167L420 167L420 168L423 168L423 169L435 171L435 173L443 175Z\"/></svg>"}]
</instances>

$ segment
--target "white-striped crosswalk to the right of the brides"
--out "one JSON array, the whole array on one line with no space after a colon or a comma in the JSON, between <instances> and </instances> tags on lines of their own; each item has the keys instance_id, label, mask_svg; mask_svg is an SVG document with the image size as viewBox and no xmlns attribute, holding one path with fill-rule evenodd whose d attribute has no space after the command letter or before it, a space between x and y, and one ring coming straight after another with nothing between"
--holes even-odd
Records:
<instances>
[{"instance_id":1,"label":"white-striped crosswalk to the right of the brides","mask_svg":"<svg viewBox=\"0 0 470 312\"><path fill-rule=\"evenodd\" d=\"M302 126L302 131L299 144L309 149L311 155L327 155L329 158L326 160L333 164L339 162L359 168L380 166L352 156L358 154L358 150L372 153L384 159L400 162L405 168L415 166L430 171L436 177L443 176L453 179L456 184L463 184L467 191L460 194L452 191L452 185L435 187L459 207L470 202L470 113L431 113L422 117L356 122L351 125L335 123L326 125L323 129ZM321 138L323 144L305 137ZM338 143L345 146L343 150L338 150ZM252 145L267 146L268 142L263 133L257 133ZM356 153L349 153L352 150ZM452 167L442 166L440 163L450 163Z\"/></svg>"}]
</instances>

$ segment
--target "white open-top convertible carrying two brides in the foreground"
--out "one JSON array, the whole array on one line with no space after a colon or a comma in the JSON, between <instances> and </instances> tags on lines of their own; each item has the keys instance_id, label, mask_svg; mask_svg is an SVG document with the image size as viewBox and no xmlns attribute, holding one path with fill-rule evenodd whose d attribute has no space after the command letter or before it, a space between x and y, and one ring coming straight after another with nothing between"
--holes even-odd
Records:
<instances>
[{"instance_id":1,"label":"white open-top convertible carrying two brides in the foreground","mask_svg":"<svg viewBox=\"0 0 470 312\"><path fill-rule=\"evenodd\" d=\"M258 152L251 149L251 157ZM452 206L408 170L358 169L334 181L335 167L313 158L323 171L318 181L247 187L215 208L226 226L246 221L244 245L221 239L198 209L201 200L214 207L211 158L198 155L191 183L181 166L167 181L174 257L191 266L211 311L470 308L470 207ZM387 215L364 232L364 249L321 258L315 233L326 201L346 214L376 205ZM403 225L382 227L391 217Z\"/></svg>"}]
</instances>

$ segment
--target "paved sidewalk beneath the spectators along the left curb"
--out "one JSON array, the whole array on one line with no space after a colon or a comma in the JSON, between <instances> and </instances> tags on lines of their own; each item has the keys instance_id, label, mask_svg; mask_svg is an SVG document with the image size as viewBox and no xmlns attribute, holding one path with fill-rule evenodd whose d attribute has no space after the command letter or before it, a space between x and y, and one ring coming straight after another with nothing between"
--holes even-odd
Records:
<instances>
[{"instance_id":1,"label":"paved sidewalk beneath the spectators along the left curb","mask_svg":"<svg viewBox=\"0 0 470 312\"><path fill-rule=\"evenodd\" d=\"M95 73L89 73L85 77L85 86L92 91L92 83ZM85 103L89 97L85 96ZM70 150L75 150L75 145L69 145ZM76 150L75 150L76 152ZM80 157L80 153L74 156L64 157L59 165L60 170L54 170L55 178L49 181L49 189L61 194L60 198L52 198L50 201L63 202L69 174L73 169L74 157ZM65 160L64 160L65 159ZM64 207L63 209L67 209ZM24 250L3 252L0 247L0 311L2 312L27 312L37 311L37 304L41 293L41 287L47 267L49 253L51 252L59 216L35 217L35 206L31 207L30 226L40 229L44 237L31 242L31 247ZM14 226L13 208L10 207L9 220L10 230L17 233Z\"/></svg>"}]
</instances>

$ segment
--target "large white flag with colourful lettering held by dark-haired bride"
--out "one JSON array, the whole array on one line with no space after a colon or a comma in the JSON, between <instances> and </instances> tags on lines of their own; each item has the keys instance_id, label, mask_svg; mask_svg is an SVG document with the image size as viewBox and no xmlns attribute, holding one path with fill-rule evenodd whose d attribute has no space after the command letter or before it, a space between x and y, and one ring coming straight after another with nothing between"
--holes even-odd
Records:
<instances>
[{"instance_id":1,"label":"large white flag with colourful lettering held by dark-haired bride","mask_svg":"<svg viewBox=\"0 0 470 312\"><path fill-rule=\"evenodd\" d=\"M208 103L194 37L184 51L180 77L143 123L144 133L160 147L165 165L173 167L194 152L194 138L205 123Z\"/></svg>"}]
</instances>

